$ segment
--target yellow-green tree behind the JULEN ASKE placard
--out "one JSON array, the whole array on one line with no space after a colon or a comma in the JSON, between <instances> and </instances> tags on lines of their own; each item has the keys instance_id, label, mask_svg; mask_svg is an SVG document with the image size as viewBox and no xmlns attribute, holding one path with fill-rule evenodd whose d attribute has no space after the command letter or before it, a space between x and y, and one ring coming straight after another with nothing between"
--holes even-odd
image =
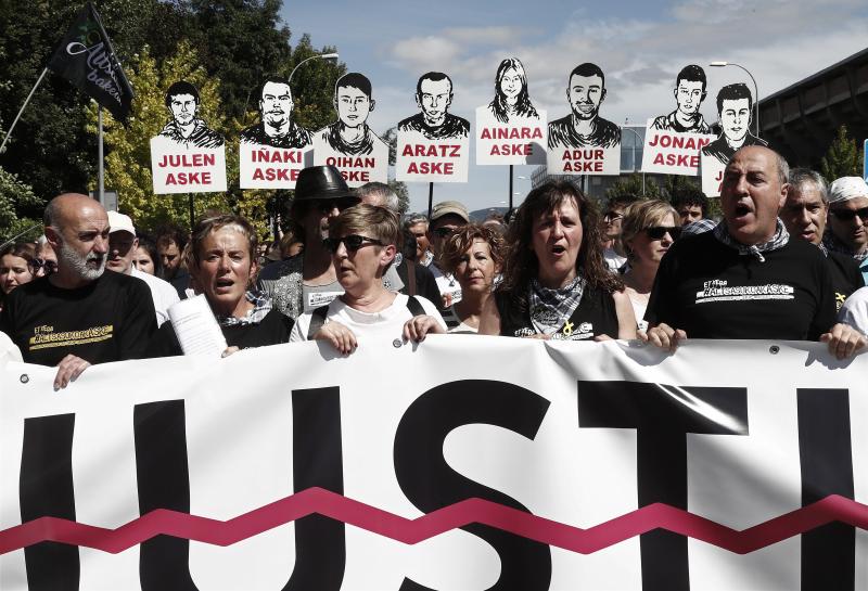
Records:
<instances>
[{"instance_id":1,"label":"yellow-green tree behind the JULEN ASKE placard","mask_svg":"<svg viewBox=\"0 0 868 591\"><path fill-rule=\"evenodd\" d=\"M189 223L188 195L154 195L151 176L151 138L157 136L170 118L165 106L166 89L177 80L193 83L200 93L199 115L227 137L234 137L237 128L222 115L219 80L207 75L199 65L199 56L190 44L182 41L175 54L162 65L144 48L133 55L127 72L136 88L129 126L124 127L103 113L105 129L105 187L118 193L118 208L128 214L141 228L153 229L161 223ZM97 132L97 106L88 108L88 131ZM226 144L227 176L238 177L238 144ZM93 182L91 184L94 184ZM225 193L197 193L194 196L197 214L206 209L231 209Z\"/></svg>"}]
</instances>

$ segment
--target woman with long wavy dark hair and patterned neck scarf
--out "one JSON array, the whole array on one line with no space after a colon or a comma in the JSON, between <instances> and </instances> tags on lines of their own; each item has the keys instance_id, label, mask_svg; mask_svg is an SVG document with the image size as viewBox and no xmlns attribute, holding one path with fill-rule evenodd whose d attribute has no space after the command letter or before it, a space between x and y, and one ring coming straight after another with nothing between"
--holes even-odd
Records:
<instances>
[{"instance_id":1,"label":"woman with long wavy dark hair and patterned neck scarf","mask_svg":"<svg viewBox=\"0 0 868 591\"><path fill-rule=\"evenodd\" d=\"M600 249L599 215L563 181L527 195L507 232L503 282L480 334L565 341L636 338L624 283Z\"/></svg>"}]
</instances>

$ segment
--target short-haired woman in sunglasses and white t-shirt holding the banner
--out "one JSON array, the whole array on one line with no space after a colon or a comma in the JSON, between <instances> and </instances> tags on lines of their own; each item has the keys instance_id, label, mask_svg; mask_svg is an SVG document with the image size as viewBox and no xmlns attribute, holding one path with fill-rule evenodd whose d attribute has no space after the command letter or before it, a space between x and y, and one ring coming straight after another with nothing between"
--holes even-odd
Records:
<instances>
[{"instance_id":1,"label":"short-haired woman in sunglasses and white t-shirt holding the banner","mask_svg":"<svg viewBox=\"0 0 868 591\"><path fill-rule=\"evenodd\" d=\"M358 347L358 338L399 346L445 333L437 308L427 299L391 292L383 273L395 259L399 240L397 216L383 207L356 205L329 223L323 245L344 294L298 317L291 342L328 341L342 355Z\"/></svg>"}]
</instances>

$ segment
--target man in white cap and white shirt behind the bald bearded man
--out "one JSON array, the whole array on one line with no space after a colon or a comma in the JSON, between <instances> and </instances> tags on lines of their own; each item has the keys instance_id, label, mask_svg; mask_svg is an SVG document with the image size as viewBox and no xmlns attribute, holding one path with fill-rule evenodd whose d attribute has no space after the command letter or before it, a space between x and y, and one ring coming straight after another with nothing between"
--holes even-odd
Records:
<instances>
[{"instance_id":1,"label":"man in white cap and white shirt behind the bald bearded man","mask_svg":"<svg viewBox=\"0 0 868 591\"><path fill-rule=\"evenodd\" d=\"M139 247L139 239L136 237L136 228L129 216L108 211L108 253L105 267L110 271L141 279L148 284L154 300L156 324L161 326L169 319L169 306L180 300L178 292L168 281L143 273L132 265L132 257L136 248Z\"/></svg>"}]
</instances>

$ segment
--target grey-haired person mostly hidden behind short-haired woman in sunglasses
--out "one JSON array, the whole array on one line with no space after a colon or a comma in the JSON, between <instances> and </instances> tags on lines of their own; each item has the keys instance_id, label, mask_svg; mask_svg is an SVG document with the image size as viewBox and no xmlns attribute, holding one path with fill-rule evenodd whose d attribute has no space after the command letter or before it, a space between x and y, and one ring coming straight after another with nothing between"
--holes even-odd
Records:
<instances>
[{"instance_id":1,"label":"grey-haired person mostly hidden behind short-haired woman in sunglasses","mask_svg":"<svg viewBox=\"0 0 868 591\"><path fill-rule=\"evenodd\" d=\"M400 202L398 195L385 183L369 182L356 189L356 195L361 203L385 207L395 216L400 216ZM403 236L406 239L407 236ZM406 242L406 241L405 241ZM405 246L399 244L398 246ZM416 253L416 249L412 249ZM398 291L406 295L421 295L425 299L439 305L441 293L437 290L437 281L425 267L419 265L406 247L399 248L395 255L395 260L383 275L383 284L388 290Z\"/></svg>"}]
</instances>

